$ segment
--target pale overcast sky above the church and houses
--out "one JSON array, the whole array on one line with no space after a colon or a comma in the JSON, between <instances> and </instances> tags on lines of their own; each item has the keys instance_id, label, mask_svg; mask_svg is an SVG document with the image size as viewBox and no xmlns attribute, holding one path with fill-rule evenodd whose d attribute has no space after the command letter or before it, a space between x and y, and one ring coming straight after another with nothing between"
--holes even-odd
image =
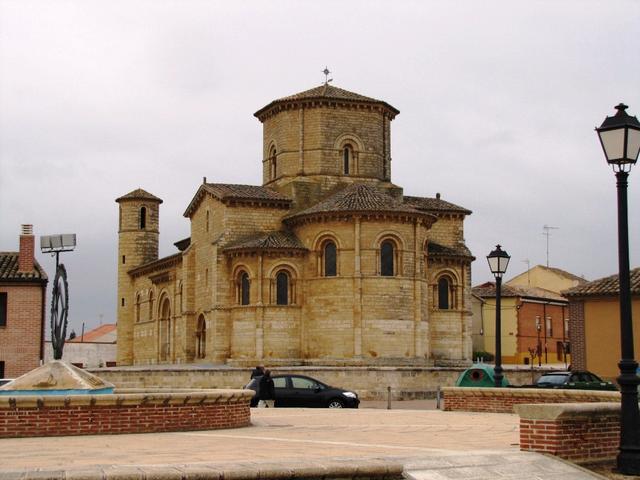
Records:
<instances>
[{"instance_id":1,"label":"pale overcast sky above the church and houses","mask_svg":"<svg viewBox=\"0 0 640 480\"><path fill-rule=\"evenodd\" d=\"M0 250L75 232L71 328L115 321L118 208L161 197L160 254L206 176L261 184L253 112L322 83L387 101L392 180L473 211L473 284L546 262L617 272L615 178L593 131L640 115L640 2L0 0ZM640 167L629 188L640 264ZM53 275L54 260L38 255Z\"/></svg>"}]
</instances>

